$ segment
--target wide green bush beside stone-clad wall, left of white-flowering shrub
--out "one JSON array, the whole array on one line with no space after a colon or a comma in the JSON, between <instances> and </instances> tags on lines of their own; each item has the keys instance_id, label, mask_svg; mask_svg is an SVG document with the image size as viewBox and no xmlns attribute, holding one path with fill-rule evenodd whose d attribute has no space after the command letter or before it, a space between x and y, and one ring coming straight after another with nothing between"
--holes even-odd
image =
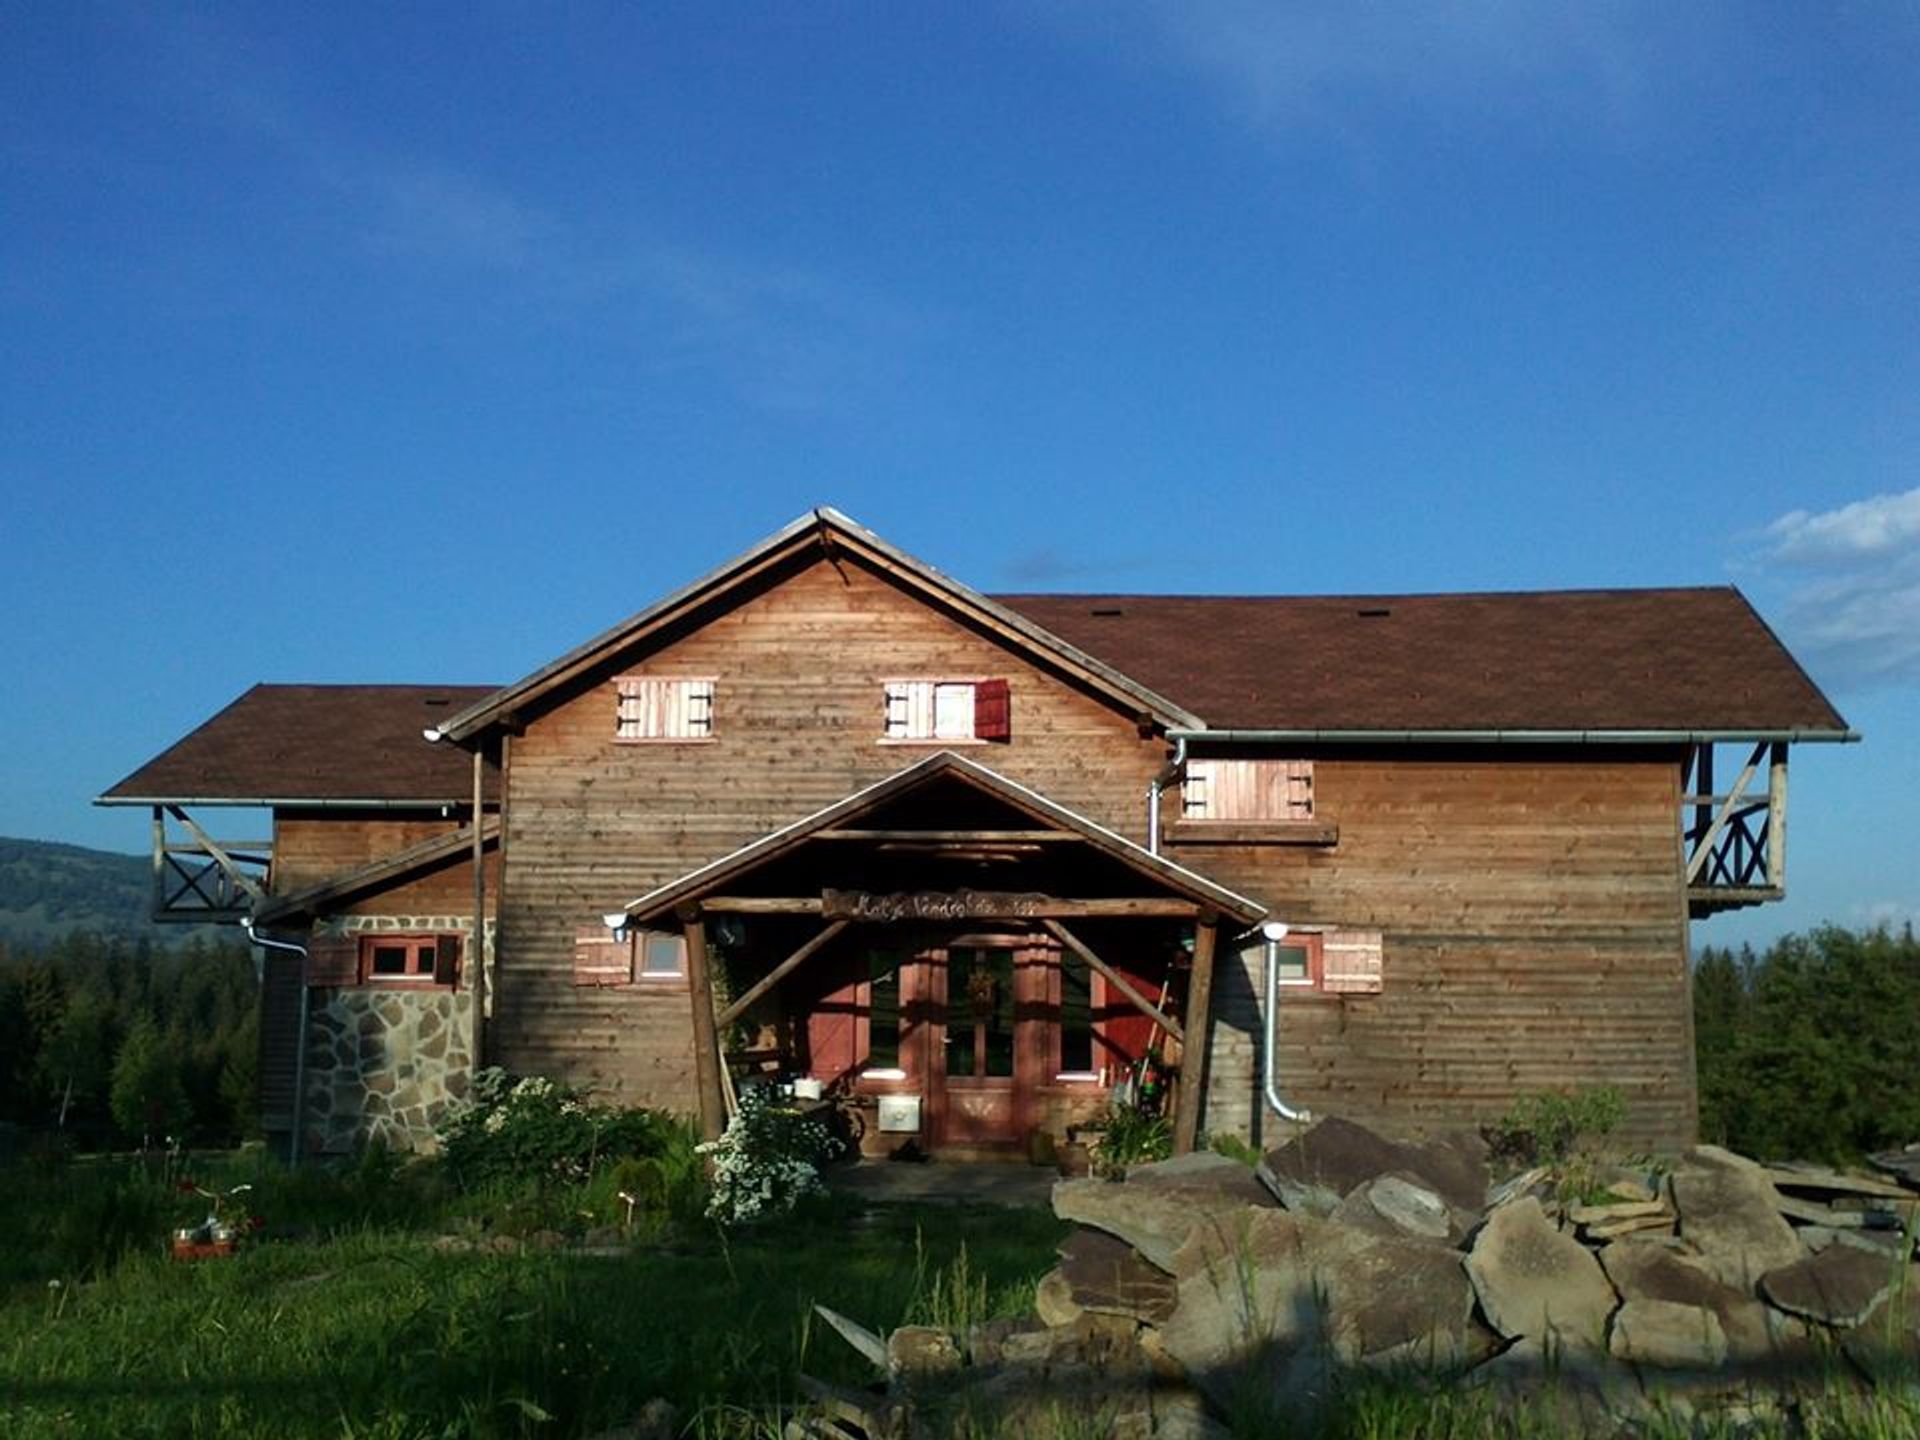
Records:
<instances>
[{"instance_id":1,"label":"wide green bush beside stone-clad wall, left of white-flowering shrub","mask_svg":"<svg viewBox=\"0 0 1920 1440\"><path fill-rule=\"evenodd\" d=\"M582 1185L622 1156L687 1150L685 1123L657 1110L591 1104L541 1075L503 1069L474 1077L472 1102L436 1129L447 1171L463 1188Z\"/></svg>"}]
</instances>

